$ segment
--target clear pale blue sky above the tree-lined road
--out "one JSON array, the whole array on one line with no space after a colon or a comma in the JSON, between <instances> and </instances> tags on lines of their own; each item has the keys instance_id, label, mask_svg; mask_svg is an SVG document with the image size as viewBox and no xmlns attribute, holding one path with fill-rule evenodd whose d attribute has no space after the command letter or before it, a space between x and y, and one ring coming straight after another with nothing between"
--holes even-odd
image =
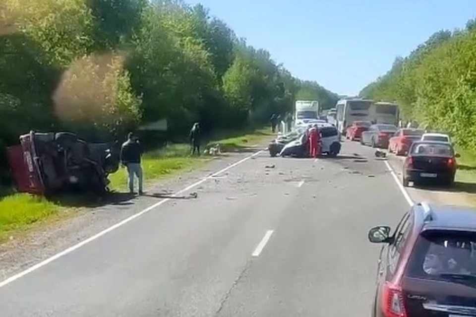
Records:
<instances>
[{"instance_id":1,"label":"clear pale blue sky above the tree-lined road","mask_svg":"<svg viewBox=\"0 0 476 317\"><path fill-rule=\"evenodd\" d=\"M348 95L434 32L476 16L476 0L185 1L202 3L293 75Z\"/></svg>"}]
</instances>

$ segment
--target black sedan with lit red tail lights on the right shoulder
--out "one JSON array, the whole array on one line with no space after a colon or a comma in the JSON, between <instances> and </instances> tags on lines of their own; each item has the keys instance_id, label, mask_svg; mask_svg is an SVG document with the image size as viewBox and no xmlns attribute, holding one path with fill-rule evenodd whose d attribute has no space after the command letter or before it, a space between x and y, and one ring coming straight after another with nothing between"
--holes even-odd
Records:
<instances>
[{"instance_id":1,"label":"black sedan with lit red tail lights on the right shoulder","mask_svg":"<svg viewBox=\"0 0 476 317\"><path fill-rule=\"evenodd\" d=\"M412 143L403 165L403 186L422 183L452 186L455 181L456 158L448 142L416 141Z\"/></svg>"}]
</instances>

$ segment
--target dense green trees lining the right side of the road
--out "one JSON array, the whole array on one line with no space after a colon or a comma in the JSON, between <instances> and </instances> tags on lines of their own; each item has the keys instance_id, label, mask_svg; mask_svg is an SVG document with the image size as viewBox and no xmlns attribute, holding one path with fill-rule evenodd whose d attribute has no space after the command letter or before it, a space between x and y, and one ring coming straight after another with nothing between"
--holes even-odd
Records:
<instances>
[{"instance_id":1,"label":"dense green trees lining the right side of the road","mask_svg":"<svg viewBox=\"0 0 476 317\"><path fill-rule=\"evenodd\" d=\"M407 119L450 133L476 150L476 28L439 31L360 92L361 97L397 101Z\"/></svg>"}]
</instances>

